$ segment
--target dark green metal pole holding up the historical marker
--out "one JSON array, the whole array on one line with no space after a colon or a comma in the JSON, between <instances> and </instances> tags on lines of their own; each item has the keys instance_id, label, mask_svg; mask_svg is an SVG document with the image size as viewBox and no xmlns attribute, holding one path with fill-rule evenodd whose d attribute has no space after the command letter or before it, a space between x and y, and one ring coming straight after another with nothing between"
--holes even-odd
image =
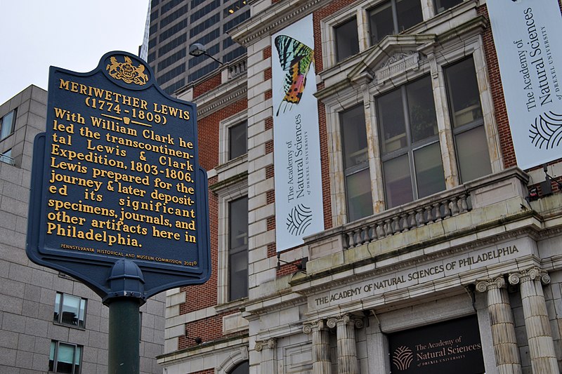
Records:
<instances>
[{"instance_id":1,"label":"dark green metal pole holding up the historical marker","mask_svg":"<svg viewBox=\"0 0 562 374\"><path fill-rule=\"evenodd\" d=\"M141 319L138 298L115 298L110 302L109 374L139 374Z\"/></svg>"}]
</instances>

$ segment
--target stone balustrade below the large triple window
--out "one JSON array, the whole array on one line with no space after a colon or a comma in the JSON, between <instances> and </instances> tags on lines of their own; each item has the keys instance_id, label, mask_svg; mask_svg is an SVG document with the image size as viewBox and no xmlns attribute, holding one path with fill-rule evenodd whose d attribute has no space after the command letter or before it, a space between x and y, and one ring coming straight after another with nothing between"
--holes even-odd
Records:
<instances>
[{"instance_id":1,"label":"stone balustrade below the large triple window","mask_svg":"<svg viewBox=\"0 0 562 374\"><path fill-rule=\"evenodd\" d=\"M507 201L520 208L530 208L525 202L528 175L518 168L509 168L464 185L447 189L438 194L388 209L346 225L334 227L305 238L310 259L348 250L388 236L395 236L436 222L483 209L488 220L499 219L508 214ZM495 206L497 214L491 210ZM511 209L511 208L510 208ZM490 213L488 213L490 212ZM496 214L497 217L493 217ZM476 220L476 218L475 218ZM478 222L481 219L478 218ZM474 222L476 225L478 222Z\"/></svg>"}]
</instances>

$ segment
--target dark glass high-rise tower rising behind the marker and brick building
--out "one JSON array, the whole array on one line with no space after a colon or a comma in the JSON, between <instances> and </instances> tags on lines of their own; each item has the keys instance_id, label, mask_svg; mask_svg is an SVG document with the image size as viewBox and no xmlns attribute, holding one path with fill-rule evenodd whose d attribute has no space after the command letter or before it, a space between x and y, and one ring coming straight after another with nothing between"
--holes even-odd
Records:
<instances>
[{"instance_id":1,"label":"dark glass high-rise tower rising behind the marker and brick building","mask_svg":"<svg viewBox=\"0 0 562 374\"><path fill-rule=\"evenodd\" d=\"M202 44L222 63L244 55L246 49L226 33L249 18L246 0L152 0L148 63L166 93L215 71L219 63L191 56L192 44Z\"/></svg>"}]
</instances>

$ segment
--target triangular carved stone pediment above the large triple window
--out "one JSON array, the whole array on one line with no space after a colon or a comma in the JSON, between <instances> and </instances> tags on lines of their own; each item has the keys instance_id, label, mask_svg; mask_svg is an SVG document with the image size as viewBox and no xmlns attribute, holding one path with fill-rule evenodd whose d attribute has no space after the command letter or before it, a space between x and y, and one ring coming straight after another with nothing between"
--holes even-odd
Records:
<instances>
[{"instance_id":1,"label":"triangular carved stone pediment above the large triple window","mask_svg":"<svg viewBox=\"0 0 562 374\"><path fill-rule=\"evenodd\" d=\"M434 34L386 36L351 69L348 79L360 84L376 79L377 84L384 84L393 76L416 70L421 60L419 51L431 46L436 40L437 36Z\"/></svg>"}]
</instances>

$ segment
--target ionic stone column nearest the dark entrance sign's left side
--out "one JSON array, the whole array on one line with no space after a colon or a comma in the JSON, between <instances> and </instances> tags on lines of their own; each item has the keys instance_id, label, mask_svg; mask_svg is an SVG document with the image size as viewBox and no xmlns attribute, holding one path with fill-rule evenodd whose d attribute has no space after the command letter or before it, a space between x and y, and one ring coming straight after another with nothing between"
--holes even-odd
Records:
<instances>
[{"instance_id":1,"label":"ionic stone column nearest the dark entrance sign's left side","mask_svg":"<svg viewBox=\"0 0 562 374\"><path fill-rule=\"evenodd\" d=\"M348 314L327 321L329 328L336 327L338 345L338 373L359 374L357 348L355 347L355 320Z\"/></svg>"}]
</instances>

